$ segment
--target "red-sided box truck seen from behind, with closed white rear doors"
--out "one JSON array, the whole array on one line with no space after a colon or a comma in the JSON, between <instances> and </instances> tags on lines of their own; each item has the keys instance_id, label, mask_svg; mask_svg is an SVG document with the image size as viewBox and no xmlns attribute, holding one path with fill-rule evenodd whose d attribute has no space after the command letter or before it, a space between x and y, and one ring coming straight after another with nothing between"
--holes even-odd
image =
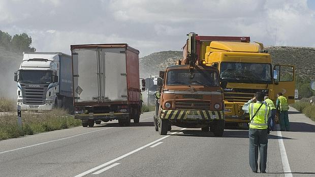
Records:
<instances>
[{"instance_id":1,"label":"red-sided box truck seen from behind, with closed white rear doors","mask_svg":"<svg viewBox=\"0 0 315 177\"><path fill-rule=\"evenodd\" d=\"M139 123L139 51L128 44L71 45L75 119L83 127L118 120Z\"/></svg>"}]
</instances>

